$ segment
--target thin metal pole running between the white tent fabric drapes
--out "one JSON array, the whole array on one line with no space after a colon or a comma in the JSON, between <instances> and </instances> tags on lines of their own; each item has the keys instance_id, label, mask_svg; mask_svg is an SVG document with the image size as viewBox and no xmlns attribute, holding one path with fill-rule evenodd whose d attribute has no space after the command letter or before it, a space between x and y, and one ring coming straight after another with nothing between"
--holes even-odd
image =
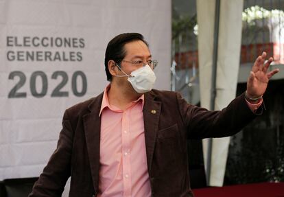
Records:
<instances>
[{"instance_id":1,"label":"thin metal pole running between the white tent fabric drapes","mask_svg":"<svg viewBox=\"0 0 284 197\"><path fill-rule=\"evenodd\" d=\"M218 38L219 38L219 23L220 23L220 2L221 0L215 0L215 21L214 21L214 43L213 43L213 65L212 65L212 82L211 82L211 97L210 97L210 110L215 109L216 98L216 76L217 76L217 57L218 57ZM207 149L207 163L206 163L206 179L207 185L210 183L211 174L211 160L212 160L212 143L213 139L208 141Z\"/></svg>"}]
</instances>

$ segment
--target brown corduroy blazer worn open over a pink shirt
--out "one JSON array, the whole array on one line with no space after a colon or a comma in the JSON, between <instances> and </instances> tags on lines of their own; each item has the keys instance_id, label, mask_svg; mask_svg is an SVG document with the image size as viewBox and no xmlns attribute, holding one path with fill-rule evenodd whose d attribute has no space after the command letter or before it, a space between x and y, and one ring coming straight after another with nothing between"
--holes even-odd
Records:
<instances>
[{"instance_id":1,"label":"brown corduroy blazer worn open over a pink shirt","mask_svg":"<svg viewBox=\"0 0 284 197\"><path fill-rule=\"evenodd\" d=\"M69 176L70 197L97 196L102 96L103 93L65 111L58 146L30 197L61 196ZM261 106L258 114L262 109ZM152 196L193 196L187 139L234 135L256 116L248 108L244 94L222 111L207 111L187 104L179 93L145 93L143 119Z\"/></svg>"}]
</instances>

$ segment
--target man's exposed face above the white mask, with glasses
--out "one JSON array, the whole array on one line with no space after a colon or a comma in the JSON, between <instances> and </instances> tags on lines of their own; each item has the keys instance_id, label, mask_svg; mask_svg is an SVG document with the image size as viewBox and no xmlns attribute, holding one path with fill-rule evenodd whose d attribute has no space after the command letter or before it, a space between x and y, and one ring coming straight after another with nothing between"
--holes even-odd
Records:
<instances>
[{"instance_id":1,"label":"man's exposed face above the white mask, with glasses","mask_svg":"<svg viewBox=\"0 0 284 197\"><path fill-rule=\"evenodd\" d=\"M143 61L146 64L152 58L149 48L141 40L127 43L124 45L124 49L126 50L126 56L123 60L126 61L121 61L121 69L127 74L142 67L142 65L137 66L131 62Z\"/></svg>"}]
</instances>

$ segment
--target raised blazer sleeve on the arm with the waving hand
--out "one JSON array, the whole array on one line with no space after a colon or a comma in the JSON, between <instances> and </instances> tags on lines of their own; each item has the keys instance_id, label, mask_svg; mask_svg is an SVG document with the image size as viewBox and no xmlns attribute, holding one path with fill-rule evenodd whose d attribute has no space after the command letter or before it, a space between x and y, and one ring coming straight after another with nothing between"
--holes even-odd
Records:
<instances>
[{"instance_id":1,"label":"raised blazer sleeve on the arm with the waving hand","mask_svg":"<svg viewBox=\"0 0 284 197\"><path fill-rule=\"evenodd\" d=\"M187 104L179 93L176 96L180 115L187 129L187 137L191 139L234 135L263 112L264 103L256 113L252 113L246 104L244 93L222 111L208 111L206 108Z\"/></svg>"}]
</instances>

